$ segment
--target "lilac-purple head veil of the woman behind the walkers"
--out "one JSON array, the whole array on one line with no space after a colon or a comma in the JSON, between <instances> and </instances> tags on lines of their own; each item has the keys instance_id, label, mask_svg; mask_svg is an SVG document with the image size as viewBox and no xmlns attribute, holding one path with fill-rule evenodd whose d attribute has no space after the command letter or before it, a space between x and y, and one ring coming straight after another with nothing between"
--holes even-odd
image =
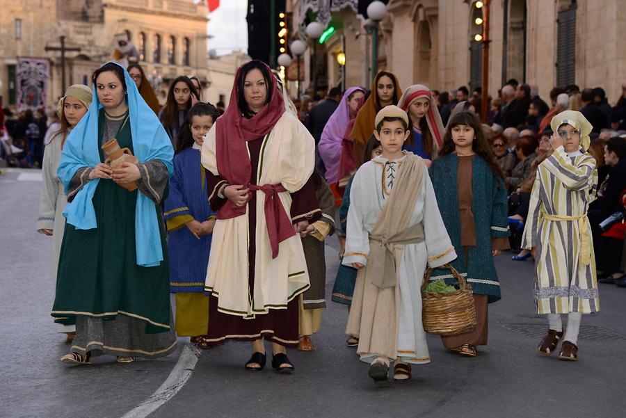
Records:
<instances>
[{"instance_id":1,"label":"lilac-purple head veil of the woman behind the walkers","mask_svg":"<svg viewBox=\"0 0 626 418\"><path fill-rule=\"evenodd\" d=\"M339 179L339 159L342 148L342 141L346 133L346 127L350 123L350 106L348 105L348 97L353 93L360 91L365 94L365 90L360 87L351 87L346 90L339 106L328 118L326 126L322 131L319 144L317 145L319 155L321 156L324 166L326 166L326 181L329 184L336 183Z\"/></svg>"}]
</instances>

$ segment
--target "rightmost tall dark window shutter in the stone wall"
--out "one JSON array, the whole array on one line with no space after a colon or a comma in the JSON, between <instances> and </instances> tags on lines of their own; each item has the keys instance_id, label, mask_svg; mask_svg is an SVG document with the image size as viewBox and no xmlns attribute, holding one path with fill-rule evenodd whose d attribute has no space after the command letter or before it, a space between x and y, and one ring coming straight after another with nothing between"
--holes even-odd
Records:
<instances>
[{"instance_id":1,"label":"rightmost tall dark window shutter in the stone wall","mask_svg":"<svg viewBox=\"0 0 626 418\"><path fill-rule=\"evenodd\" d=\"M559 12L556 34L556 86L576 80L576 6Z\"/></svg>"}]
</instances>

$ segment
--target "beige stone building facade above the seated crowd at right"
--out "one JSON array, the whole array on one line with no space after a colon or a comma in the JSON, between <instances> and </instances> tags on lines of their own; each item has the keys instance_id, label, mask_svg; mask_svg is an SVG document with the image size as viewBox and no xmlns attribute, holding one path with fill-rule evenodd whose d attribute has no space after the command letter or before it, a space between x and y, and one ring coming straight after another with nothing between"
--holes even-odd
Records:
<instances>
[{"instance_id":1,"label":"beige stone building facade above the seated crowd at right","mask_svg":"<svg viewBox=\"0 0 626 418\"><path fill-rule=\"evenodd\" d=\"M346 85L369 86L371 35L365 18L357 16L362 2L288 0L287 7L297 28L327 3L344 6L331 10L331 19L343 26L324 44L330 84L340 81L330 57L341 48L338 42L343 36ZM481 31L474 23L482 17L476 0L385 3L387 15L380 22L378 38L379 69L392 70L403 87L424 83L449 90L481 85L482 45L473 41ZM310 10L307 16L303 5ZM580 88L604 88L611 103L620 96L626 80L626 0L490 0L489 17L490 95L515 78L537 85L542 97L554 86L572 83ZM309 48L305 59L310 55Z\"/></svg>"}]
</instances>

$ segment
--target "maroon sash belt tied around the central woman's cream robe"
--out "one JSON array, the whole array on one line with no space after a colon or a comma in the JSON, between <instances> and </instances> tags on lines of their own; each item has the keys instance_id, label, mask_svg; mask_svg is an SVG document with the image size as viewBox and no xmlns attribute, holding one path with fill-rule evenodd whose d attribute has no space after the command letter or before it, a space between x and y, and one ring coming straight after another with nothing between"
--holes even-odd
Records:
<instances>
[{"instance_id":1,"label":"maroon sash belt tied around the central woman's cream robe","mask_svg":"<svg viewBox=\"0 0 626 418\"><path fill-rule=\"evenodd\" d=\"M296 235L294 225L291 224L291 219L284 211L284 206L278 197L278 193L287 191L287 189L282 184L264 184L263 186L250 184L248 187L250 190L260 190L265 193L265 220L272 247L272 258L275 259L278 257L278 244Z\"/></svg>"}]
</instances>

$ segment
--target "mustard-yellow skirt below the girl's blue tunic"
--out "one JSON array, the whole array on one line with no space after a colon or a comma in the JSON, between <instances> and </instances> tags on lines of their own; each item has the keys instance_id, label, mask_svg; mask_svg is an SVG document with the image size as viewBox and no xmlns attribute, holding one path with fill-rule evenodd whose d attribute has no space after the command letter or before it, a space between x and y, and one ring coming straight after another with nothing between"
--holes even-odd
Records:
<instances>
[{"instance_id":1,"label":"mustard-yellow skirt below the girl's blue tunic","mask_svg":"<svg viewBox=\"0 0 626 418\"><path fill-rule=\"evenodd\" d=\"M176 334L197 337L209 332L209 296L202 293L176 294Z\"/></svg>"}]
</instances>

